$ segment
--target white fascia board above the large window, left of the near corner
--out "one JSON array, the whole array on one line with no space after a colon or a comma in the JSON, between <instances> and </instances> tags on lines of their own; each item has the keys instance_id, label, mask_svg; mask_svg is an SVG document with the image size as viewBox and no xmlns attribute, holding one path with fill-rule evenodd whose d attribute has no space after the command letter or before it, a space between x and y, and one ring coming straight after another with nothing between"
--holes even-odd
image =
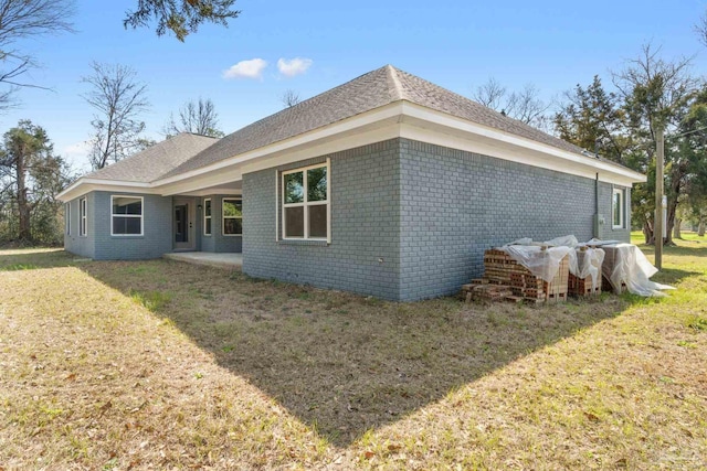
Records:
<instances>
[{"instance_id":1,"label":"white fascia board above the large window, left of the near corner","mask_svg":"<svg viewBox=\"0 0 707 471\"><path fill-rule=\"evenodd\" d=\"M318 142L326 139L337 139L341 135L358 132L360 128L367 125L373 125L376 122L398 118L401 115L402 101L391 103L380 108L376 108L370 111L362 113L351 118L344 119L341 121L333 122L321 128L304 132L292 138L274 142L268 146L264 146L251 151L233 156L229 159L221 160L210 165L202 167L200 169L191 170L189 172L180 173L179 175L170 176L168 179L157 180L154 182L155 186L165 186L170 183L180 182L183 180L194 179L204 173L218 172L225 168L233 165L240 165L254 159L270 157L277 152L292 151L293 148L299 148L304 146L310 146L314 142Z\"/></svg>"}]
</instances>

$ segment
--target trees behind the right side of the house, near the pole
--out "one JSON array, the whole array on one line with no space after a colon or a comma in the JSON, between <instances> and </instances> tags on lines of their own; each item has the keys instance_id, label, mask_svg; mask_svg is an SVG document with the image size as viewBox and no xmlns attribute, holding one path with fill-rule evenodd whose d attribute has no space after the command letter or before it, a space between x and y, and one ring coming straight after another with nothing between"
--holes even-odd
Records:
<instances>
[{"instance_id":1,"label":"trees behind the right side of the house, near the pole","mask_svg":"<svg viewBox=\"0 0 707 471\"><path fill-rule=\"evenodd\" d=\"M706 44L707 45L707 42ZM476 88L482 104L555 133L597 157L647 175L633 186L634 228L654 244L656 130L665 131L665 195L669 244L687 221L704 236L707 223L707 81L690 73L692 58L666 60L644 45L624 68L611 73L612 89L599 75L578 84L557 104L537 88L507 93L489 79Z\"/></svg>"}]
</instances>

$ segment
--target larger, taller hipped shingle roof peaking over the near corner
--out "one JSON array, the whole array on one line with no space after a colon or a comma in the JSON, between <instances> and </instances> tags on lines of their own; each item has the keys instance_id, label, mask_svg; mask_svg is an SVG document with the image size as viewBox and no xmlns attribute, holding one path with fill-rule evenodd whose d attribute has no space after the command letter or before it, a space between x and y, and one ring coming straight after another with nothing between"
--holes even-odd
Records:
<instances>
[{"instance_id":1,"label":"larger, taller hipped shingle roof peaking over the near corner","mask_svg":"<svg viewBox=\"0 0 707 471\"><path fill-rule=\"evenodd\" d=\"M381 106L407 100L500 131L566 151L582 149L521 121L434 85L391 65L253 122L200 152L163 176L173 176L294 136L321 128Z\"/></svg>"}]
</instances>

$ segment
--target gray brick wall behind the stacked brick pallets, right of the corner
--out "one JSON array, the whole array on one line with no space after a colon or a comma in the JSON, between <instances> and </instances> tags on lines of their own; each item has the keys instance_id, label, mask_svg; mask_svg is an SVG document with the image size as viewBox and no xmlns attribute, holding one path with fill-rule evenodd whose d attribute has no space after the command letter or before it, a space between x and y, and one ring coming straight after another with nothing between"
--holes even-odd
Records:
<instances>
[{"instance_id":1,"label":"gray brick wall behind the stacked brick pallets, right of the corner","mask_svg":"<svg viewBox=\"0 0 707 471\"><path fill-rule=\"evenodd\" d=\"M400 149L402 300L457 291L483 274L483 253L493 246L592 237L592 179L407 139ZM604 229L611 188L600 184ZM627 240L627 234L610 235Z\"/></svg>"}]
</instances>

